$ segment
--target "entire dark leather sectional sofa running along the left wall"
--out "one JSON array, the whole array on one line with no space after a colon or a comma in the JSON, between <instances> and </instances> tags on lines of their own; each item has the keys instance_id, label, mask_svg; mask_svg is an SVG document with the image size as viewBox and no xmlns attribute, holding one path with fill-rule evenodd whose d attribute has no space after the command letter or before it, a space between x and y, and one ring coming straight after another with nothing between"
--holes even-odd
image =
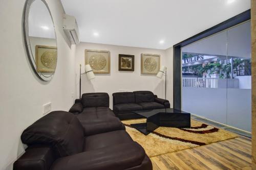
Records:
<instances>
[{"instance_id":1,"label":"entire dark leather sectional sofa running along the left wall","mask_svg":"<svg viewBox=\"0 0 256 170\"><path fill-rule=\"evenodd\" d=\"M73 113L54 111L38 119L22 134L28 148L13 169L151 170L151 160L108 102L106 93L83 94L71 108Z\"/></svg>"}]
</instances>

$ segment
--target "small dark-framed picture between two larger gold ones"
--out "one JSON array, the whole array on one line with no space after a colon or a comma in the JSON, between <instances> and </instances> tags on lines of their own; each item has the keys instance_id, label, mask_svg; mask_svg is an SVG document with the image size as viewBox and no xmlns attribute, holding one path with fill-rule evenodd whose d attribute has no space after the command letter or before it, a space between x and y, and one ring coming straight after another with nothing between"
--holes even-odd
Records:
<instances>
[{"instance_id":1,"label":"small dark-framed picture between two larger gold ones","mask_svg":"<svg viewBox=\"0 0 256 170\"><path fill-rule=\"evenodd\" d=\"M119 54L118 70L134 71L134 55Z\"/></svg>"}]
</instances>

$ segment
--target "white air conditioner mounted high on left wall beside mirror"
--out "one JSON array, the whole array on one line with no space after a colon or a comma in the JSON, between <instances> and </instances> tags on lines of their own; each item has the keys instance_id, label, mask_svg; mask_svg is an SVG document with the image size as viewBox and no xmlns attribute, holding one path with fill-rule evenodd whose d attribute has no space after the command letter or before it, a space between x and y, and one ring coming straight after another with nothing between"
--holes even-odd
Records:
<instances>
[{"instance_id":1,"label":"white air conditioner mounted high on left wall beside mirror","mask_svg":"<svg viewBox=\"0 0 256 170\"><path fill-rule=\"evenodd\" d=\"M79 44L79 30L74 16L64 14L63 17L63 30L68 36L71 44Z\"/></svg>"}]
</instances>

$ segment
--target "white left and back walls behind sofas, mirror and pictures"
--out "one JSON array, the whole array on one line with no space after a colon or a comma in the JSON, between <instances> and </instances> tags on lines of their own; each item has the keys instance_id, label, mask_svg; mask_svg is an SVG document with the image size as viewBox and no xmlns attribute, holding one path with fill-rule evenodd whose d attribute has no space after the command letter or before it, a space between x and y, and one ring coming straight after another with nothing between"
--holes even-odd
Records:
<instances>
[{"instance_id":1,"label":"white left and back walls behind sofas, mirror and pictures","mask_svg":"<svg viewBox=\"0 0 256 170\"><path fill-rule=\"evenodd\" d=\"M63 8L60 0L47 0L55 23L58 62L50 82L42 82L34 74L25 53L22 34L22 14L25 0L1 0L0 22L0 169L12 169L13 162L24 153L20 140L23 130L42 116L42 105L51 102L53 110L68 110L79 90L79 63L84 69L84 49L109 50L111 74L96 75L88 81L82 76L82 92L108 92L120 89L151 90L164 98L164 78L140 74L141 53L161 55L161 65L168 67L167 99L173 102L173 54L168 50L81 43L71 46L62 30ZM118 71L118 54L135 55L135 71ZM76 57L75 57L76 56ZM76 90L77 88L77 90ZM74 96L72 97L72 93Z\"/></svg>"}]
</instances>

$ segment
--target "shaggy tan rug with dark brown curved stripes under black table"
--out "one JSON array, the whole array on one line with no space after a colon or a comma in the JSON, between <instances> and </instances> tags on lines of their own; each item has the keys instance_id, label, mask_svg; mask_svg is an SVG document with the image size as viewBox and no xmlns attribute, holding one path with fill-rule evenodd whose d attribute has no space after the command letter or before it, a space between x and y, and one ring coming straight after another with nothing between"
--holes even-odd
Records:
<instances>
[{"instance_id":1,"label":"shaggy tan rug with dark brown curved stripes under black table","mask_svg":"<svg viewBox=\"0 0 256 170\"><path fill-rule=\"evenodd\" d=\"M123 120L126 131L137 141L149 157L195 148L209 143L238 137L236 134L218 129L194 119L191 128L159 127L154 132L144 135L132 128L131 124L145 123L146 119Z\"/></svg>"}]
</instances>

